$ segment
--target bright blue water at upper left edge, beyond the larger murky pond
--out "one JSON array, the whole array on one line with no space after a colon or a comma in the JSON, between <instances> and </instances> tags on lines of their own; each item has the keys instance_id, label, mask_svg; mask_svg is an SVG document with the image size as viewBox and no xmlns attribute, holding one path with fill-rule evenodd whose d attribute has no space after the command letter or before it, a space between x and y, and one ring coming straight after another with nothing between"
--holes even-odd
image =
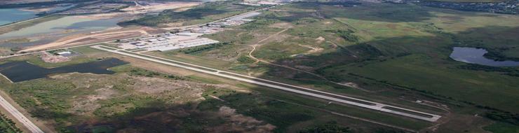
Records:
<instances>
[{"instance_id":1,"label":"bright blue water at upper left edge, beyond the larger murky pond","mask_svg":"<svg viewBox=\"0 0 519 133\"><path fill-rule=\"evenodd\" d=\"M36 18L36 13L21 8L0 8L0 25Z\"/></svg>"}]
</instances>

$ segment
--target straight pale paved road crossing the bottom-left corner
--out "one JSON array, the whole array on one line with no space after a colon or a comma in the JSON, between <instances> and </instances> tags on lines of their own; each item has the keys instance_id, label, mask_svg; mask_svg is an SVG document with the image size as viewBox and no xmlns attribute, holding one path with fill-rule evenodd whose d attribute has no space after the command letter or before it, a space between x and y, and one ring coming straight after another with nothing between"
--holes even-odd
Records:
<instances>
[{"instance_id":1,"label":"straight pale paved road crossing the bottom-left corner","mask_svg":"<svg viewBox=\"0 0 519 133\"><path fill-rule=\"evenodd\" d=\"M23 114L20 113L20 111L15 109L14 106L9 104L9 102L7 102L6 99L4 99L4 97L1 97L1 96L0 96L0 105L2 107L4 107L4 109L6 109L9 113L11 113L11 115L13 115L16 118L16 120L20 121L20 123L22 123L25 127L27 127L27 129L29 129L29 131L37 132L37 133L43 132L39 127L34 125L34 123L32 123L31 120L25 118L25 116L23 116Z\"/></svg>"}]
</instances>

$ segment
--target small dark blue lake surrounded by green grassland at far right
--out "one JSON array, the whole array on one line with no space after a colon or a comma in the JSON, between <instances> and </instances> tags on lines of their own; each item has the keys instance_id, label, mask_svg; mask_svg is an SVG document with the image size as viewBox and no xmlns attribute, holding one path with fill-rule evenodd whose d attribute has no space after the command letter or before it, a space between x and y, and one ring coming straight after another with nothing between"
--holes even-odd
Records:
<instances>
[{"instance_id":1,"label":"small dark blue lake surrounded by green grassland at far right","mask_svg":"<svg viewBox=\"0 0 519 133\"><path fill-rule=\"evenodd\" d=\"M465 63L481 64L485 66L519 66L519 62L495 61L483 57L488 51L483 48L454 47L450 58Z\"/></svg>"}]
</instances>

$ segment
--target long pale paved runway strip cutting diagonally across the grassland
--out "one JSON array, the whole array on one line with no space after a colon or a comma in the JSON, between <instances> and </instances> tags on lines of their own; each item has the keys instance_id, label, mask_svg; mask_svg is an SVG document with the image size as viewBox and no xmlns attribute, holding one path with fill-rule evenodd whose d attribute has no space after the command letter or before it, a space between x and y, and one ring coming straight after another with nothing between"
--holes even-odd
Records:
<instances>
[{"instance_id":1,"label":"long pale paved runway strip cutting diagonally across the grassland","mask_svg":"<svg viewBox=\"0 0 519 133\"><path fill-rule=\"evenodd\" d=\"M376 110L376 111L392 113L392 114L396 114L398 116L406 116L406 117L409 117L409 118L416 118L416 119L419 119L419 120L426 120L426 121L429 121L429 122L435 122L436 120L441 118L441 116L438 116L438 115L435 115L435 114L431 114L431 113L425 113L425 112L421 112L421 111L414 111L414 110L410 110L410 109L403 109L403 108L400 108L398 106L391 106L391 105L381 104L381 103L377 103L377 102L370 102L370 101L363 100L363 99L356 99L356 98L353 98L353 97L346 97L346 96L340 95L340 94L333 94L333 93L330 93L330 92L323 92L323 91L314 90L314 89L310 89L310 88L306 88L306 87L299 87L299 86L289 85L289 84L285 84L285 83L278 83L278 82L272 81L272 80L266 80L266 79L262 79L262 78L252 77L252 76L245 76L245 75L241 75L241 74L238 74L238 73L232 73L232 72L229 72L229 71L222 71L222 70L218 70L218 69L211 69L211 68L208 68L208 67L205 67L205 66L198 66L196 64L189 64L189 63L186 63L186 62L178 62L178 61L175 61L175 60L165 59L165 58L162 58L162 57L154 57L154 56L151 56L151 55L144 55L144 54L141 54L141 53L130 52L130 51L126 51L126 50L110 50L110 49L107 49L107 48L102 48L102 46L100 46L100 45L93 45L92 48L96 48L96 49L99 49L99 50L105 50L105 51L108 51L108 52L114 52L114 53L119 54L119 55L126 55L126 56L129 56L129 57L145 59L145 60L148 60L148 61L151 61L151 62L158 62L158 63L161 63L161 64L167 64L167 65L170 65L170 66L176 66L176 67L180 67L180 68L184 68L184 69L189 69L189 70L192 70L192 71L198 71L198 72L201 72L201 73L208 73L208 74L212 74L212 75L220 76L220 77L224 77L224 78L231 78L231 79L234 79L234 80L241 80L241 81L246 82L246 83L252 83L252 84L262 85L262 86L267 86L267 87L273 87L273 88L276 88L276 89L279 89L279 90L285 90L285 91L294 92L294 93L297 93L297 94L304 94L304 95L311 96L311 97L327 99L327 100L330 100L332 102L339 102L339 103L343 103L343 104L350 104L350 105L353 105L353 106L360 106L360 107L363 107L365 109L372 109L372 110ZM350 99L350 100L348 100L348 99ZM361 103L361 102L363 102L363 103ZM366 104L366 103L368 103L368 104ZM403 112L403 111L405 111L405 112ZM417 115L417 114L422 114L422 115ZM426 116L431 116L431 117L426 117Z\"/></svg>"}]
</instances>

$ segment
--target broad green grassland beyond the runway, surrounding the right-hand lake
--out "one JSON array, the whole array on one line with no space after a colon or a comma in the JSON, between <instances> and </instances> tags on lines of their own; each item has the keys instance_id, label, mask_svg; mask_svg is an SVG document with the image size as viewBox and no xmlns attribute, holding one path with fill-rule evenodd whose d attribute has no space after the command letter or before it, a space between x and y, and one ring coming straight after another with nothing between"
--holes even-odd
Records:
<instances>
[{"instance_id":1,"label":"broad green grassland beyond the runway, surrounding the right-hand lake","mask_svg":"<svg viewBox=\"0 0 519 133\"><path fill-rule=\"evenodd\" d=\"M227 66L230 71L377 102L411 108L417 105L408 100L426 99L445 104L450 108L452 120L440 126L440 131L497 131L496 127L507 127L502 123L511 123L508 126L512 129L518 126L519 104L515 103L519 100L516 89L519 84L515 81L519 78L514 74L519 71L518 67L469 65L448 57L452 47L464 46L485 48L489 50L485 57L491 59L518 60L517 15L390 3L339 7L301 2L272 8L255 19L255 22L206 36L232 45L204 50L190 57L221 59L232 62ZM249 45L284 28L289 29L262 43L252 55L312 71L338 83L353 82L372 92L338 87L300 71L255 64L247 56L252 49ZM324 41L319 41L321 37ZM322 50L310 52L310 48L302 45ZM175 55L166 53L170 55L155 54ZM217 57L215 53L234 56ZM226 66L218 66L222 67ZM497 112L499 117L492 117L492 112ZM486 118L473 117L476 114ZM481 129L457 124L464 120L478 121L475 125L480 127L488 125L490 120L501 122Z\"/></svg>"}]
</instances>

